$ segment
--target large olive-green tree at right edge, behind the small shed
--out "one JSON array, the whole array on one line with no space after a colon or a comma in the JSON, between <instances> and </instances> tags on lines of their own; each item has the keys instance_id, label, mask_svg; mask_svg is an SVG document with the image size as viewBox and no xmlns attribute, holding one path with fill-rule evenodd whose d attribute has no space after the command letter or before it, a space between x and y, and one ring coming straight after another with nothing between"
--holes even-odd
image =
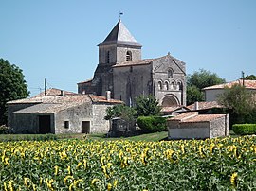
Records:
<instances>
[{"instance_id":1,"label":"large olive-green tree at right edge, behind the small shed","mask_svg":"<svg viewBox=\"0 0 256 191\"><path fill-rule=\"evenodd\" d=\"M256 122L256 94L245 86L225 87L225 92L218 96L218 103L229 109L231 124Z\"/></svg>"}]
</instances>

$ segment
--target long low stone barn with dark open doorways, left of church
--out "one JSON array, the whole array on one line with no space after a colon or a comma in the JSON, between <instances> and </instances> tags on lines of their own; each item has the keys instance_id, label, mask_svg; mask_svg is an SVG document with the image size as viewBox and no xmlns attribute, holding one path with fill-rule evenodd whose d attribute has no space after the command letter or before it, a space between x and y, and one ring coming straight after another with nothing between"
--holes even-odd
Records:
<instances>
[{"instance_id":1,"label":"long low stone barn with dark open doorways, left of church","mask_svg":"<svg viewBox=\"0 0 256 191\"><path fill-rule=\"evenodd\" d=\"M120 103L107 96L51 89L46 95L9 101L9 127L14 133L106 133L106 108Z\"/></svg>"}]
</instances>

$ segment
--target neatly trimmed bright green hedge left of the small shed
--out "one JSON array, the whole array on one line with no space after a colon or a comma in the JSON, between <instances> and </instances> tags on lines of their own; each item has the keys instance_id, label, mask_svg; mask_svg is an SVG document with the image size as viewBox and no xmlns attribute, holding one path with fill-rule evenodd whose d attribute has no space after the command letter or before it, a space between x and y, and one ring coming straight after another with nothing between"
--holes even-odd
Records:
<instances>
[{"instance_id":1,"label":"neatly trimmed bright green hedge left of the small shed","mask_svg":"<svg viewBox=\"0 0 256 191\"><path fill-rule=\"evenodd\" d=\"M166 118L160 116L139 116L138 127L145 132L159 132L167 130Z\"/></svg>"}]
</instances>

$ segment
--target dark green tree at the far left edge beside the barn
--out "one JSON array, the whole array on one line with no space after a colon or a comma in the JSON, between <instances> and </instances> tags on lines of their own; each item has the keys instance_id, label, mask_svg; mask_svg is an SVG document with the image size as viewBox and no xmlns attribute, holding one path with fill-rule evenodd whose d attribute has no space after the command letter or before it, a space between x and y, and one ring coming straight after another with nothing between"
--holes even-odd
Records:
<instances>
[{"instance_id":1,"label":"dark green tree at the far left edge beside the barn","mask_svg":"<svg viewBox=\"0 0 256 191\"><path fill-rule=\"evenodd\" d=\"M29 96L22 70L0 59L0 125L7 124L7 102Z\"/></svg>"}]
</instances>

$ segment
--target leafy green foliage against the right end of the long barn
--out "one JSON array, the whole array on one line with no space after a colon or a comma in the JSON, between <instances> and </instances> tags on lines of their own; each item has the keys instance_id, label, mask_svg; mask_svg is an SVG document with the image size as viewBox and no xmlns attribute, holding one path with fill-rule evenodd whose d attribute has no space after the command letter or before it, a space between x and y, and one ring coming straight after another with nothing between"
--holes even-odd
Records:
<instances>
[{"instance_id":1,"label":"leafy green foliage against the right end of the long barn","mask_svg":"<svg viewBox=\"0 0 256 191\"><path fill-rule=\"evenodd\" d=\"M106 109L106 116L104 117L106 120L113 119L115 117L120 117L124 120L132 121L135 119L137 112L134 108L130 108L123 104L115 105L113 107L108 107Z\"/></svg>"}]
</instances>

